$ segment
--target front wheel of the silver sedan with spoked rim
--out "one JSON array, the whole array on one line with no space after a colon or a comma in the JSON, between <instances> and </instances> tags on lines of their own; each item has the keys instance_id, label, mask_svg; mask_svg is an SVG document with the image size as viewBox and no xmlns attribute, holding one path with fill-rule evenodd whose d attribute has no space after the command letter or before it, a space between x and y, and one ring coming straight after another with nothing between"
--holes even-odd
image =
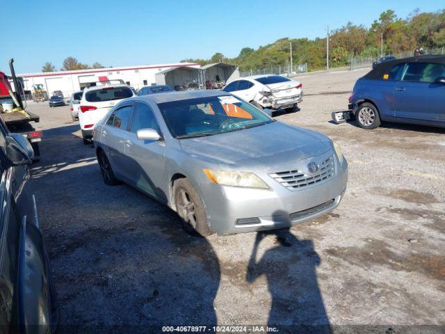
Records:
<instances>
[{"instance_id":1,"label":"front wheel of the silver sedan with spoked rim","mask_svg":"<svg viewBox=\"0 0 445 334\"><path fill-rule=\"evenodd\" d=\"M181 217L184 230L192 235L207 237L214 232L209 228L207 212L200 196L186 179L175 182L175 204L177 214Z\"/></svg>"}]
</instances>

